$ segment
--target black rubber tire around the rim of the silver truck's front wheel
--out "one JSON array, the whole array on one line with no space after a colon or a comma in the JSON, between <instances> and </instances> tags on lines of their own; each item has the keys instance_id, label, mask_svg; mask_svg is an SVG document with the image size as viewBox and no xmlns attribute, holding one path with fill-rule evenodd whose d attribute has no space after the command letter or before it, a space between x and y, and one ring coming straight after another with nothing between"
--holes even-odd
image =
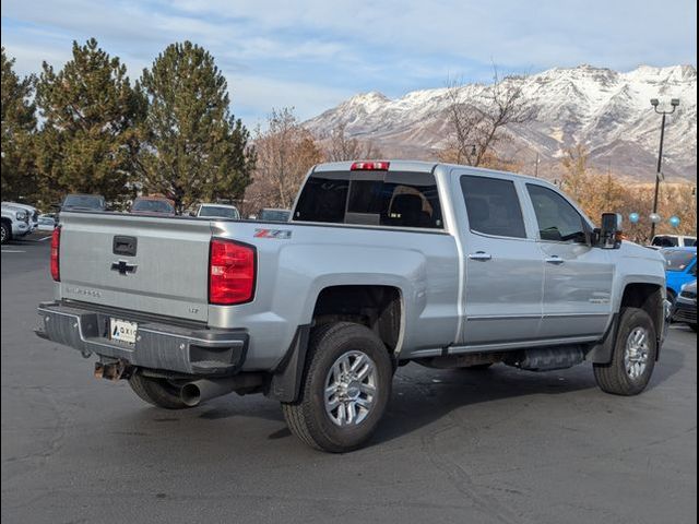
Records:
<instances>
[{"instance_id":1,"label":"black rubber tire around the rim of the silver truck's front wheel","mask_svg":"<svg viewBox=\"0 0 699 524\"><path fill-rule=\"evenodd\" d=\"M638 377L631 377L625 365L627 342L635 330L642 327L647 332L648 352L645 368ZM594 378L600 389L614 395L638 395L642 392L653 373L657 357L657 335L651 317L639 308L624 308L619 319L619 330L614 344L612 361L606 365L595 364Z\"/></svg>"}]
</instances>

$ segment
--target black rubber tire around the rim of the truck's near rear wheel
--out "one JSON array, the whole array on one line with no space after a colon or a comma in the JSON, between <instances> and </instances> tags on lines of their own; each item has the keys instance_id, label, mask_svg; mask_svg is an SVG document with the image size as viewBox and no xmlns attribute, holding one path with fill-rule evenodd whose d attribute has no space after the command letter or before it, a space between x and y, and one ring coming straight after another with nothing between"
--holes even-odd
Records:
<instances>
[{"instance_id":1,"label":"black rubber tire around the rim of the truck's near rear wheel","mask_svg":"<svg viewBox=\"0 0 699 524\"><path fill-rule=\"evenodd\" d=\"M366 418L341 427L325 410L325 380L332 366L346 353L359 352L369 357L376 369L376 395ZM294 403L282 403L291 431L318 450L344 453L362 446L378 426L389 397L393 365L381 340L368 327L352 322L324 324L311 334L306 370Z\"/></svg>"}]
</instances>

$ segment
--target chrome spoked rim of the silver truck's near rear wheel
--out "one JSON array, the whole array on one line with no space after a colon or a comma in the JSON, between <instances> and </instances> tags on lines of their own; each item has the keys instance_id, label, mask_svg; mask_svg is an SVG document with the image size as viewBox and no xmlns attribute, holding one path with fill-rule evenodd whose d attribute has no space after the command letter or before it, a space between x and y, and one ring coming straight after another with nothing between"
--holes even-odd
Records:
<instances>
[{"instance_id":1,"label":"chrome spoked rim of the silver truck's near rear wheel","mask_svg":"<svg viewBox=\"0 0 699 524\"><path fill-rule=\"evenodd\" d=\"M356 426L374 407L378 386L376 364L365 353L347 352L325 377L325 413L335 426Z\"/></svg>"}]
</instances>

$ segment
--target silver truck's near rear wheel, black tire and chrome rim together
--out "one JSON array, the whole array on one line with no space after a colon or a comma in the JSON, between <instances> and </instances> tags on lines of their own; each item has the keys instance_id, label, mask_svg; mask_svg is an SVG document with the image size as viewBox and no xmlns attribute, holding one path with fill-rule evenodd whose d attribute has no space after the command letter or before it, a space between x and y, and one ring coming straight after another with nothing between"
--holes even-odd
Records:
<instances>
[{"instance_id":1,"label":"silver truck's near rear wheel, black tire and chrome rim together","mask_svg":"<svg viewBox=\"0 0 699 524\"><path fill-rule=\"evenodd\" d=\"M374 433L391 395L393 366L368 327L336 322L311 335L299 398L282 403L291 431L318 450L356 450Z\"/></svg>"}]
</instances>

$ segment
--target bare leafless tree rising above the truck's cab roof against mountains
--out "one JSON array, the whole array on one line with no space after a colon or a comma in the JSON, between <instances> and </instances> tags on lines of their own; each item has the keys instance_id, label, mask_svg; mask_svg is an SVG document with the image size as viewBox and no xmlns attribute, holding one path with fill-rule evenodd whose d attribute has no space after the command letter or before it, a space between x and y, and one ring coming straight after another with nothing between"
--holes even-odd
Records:
<instances>
[{"instance_id":1,"label":"bare leafless tree rising above the truck's cab roof against mountains","mask_svg":"<svg viewBox=\"0 0 699 524\"><path fill-rule=\"evenodd\" d=\"M442 158L471 166L497 160L496 146L511 140L507 126L534 118L522 97L523 76L500 76L493 67L493 83L465 98L465 84L450 81L447 86L447 116L451 128Z\"/></svg>"}]
</instances>

